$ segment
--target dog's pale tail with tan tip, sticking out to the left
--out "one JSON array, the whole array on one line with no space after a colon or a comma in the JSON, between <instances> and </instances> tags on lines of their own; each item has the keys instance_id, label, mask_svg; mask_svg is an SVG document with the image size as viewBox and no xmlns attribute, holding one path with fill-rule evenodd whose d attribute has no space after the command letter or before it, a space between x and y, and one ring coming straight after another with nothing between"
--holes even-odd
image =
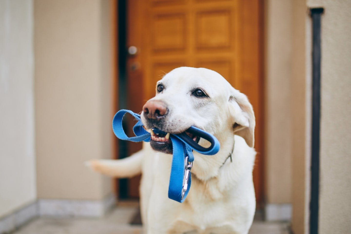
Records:
<instances>
[{"instance_id":1,"label":"dog's pale tail with tan tip, sticking out to the left","mask_svg":"<svg viewBox=\"0 0 351 234\"><path fill-rule=\"evenodd\" d=\"M141 173L141 162L143 161L143 150L138 151L131 156L118 159L100 159L86 161L85 165L95 172L100 172L117 178L127 178Z\"/></svg>"}]
</instances>

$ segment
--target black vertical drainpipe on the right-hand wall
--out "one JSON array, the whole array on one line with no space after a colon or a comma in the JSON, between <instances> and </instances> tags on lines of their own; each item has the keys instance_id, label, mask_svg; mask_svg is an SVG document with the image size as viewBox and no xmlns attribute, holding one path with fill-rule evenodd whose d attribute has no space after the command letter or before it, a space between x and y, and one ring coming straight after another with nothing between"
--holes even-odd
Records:
<instances>
[{"instance_id":1,"label":"black vertical drainpipe on the right-hand wall","mask_svg":"<svg viewBox=\"0 0 351 234\"><path fill-rule=\"evenodd\" d=\"M310 234L318 233L320 145L320 15L323 14L323 12L323 8L310 9L313 28Z\"/></svg>"}]
</instances>

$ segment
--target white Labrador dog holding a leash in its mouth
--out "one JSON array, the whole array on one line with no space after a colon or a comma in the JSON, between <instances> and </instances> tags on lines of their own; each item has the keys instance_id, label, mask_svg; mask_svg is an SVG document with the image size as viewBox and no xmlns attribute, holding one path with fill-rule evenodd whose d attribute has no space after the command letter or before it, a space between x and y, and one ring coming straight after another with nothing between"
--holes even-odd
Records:
<instances>
[{"instance_id":1,"label":"white Labrador dog holding a leash in its mouth","mask_svg":"<svg viewBox=\"0 0 351 234\"><path fill-rule=\"evenodd\" d=\"M90 161L95 171L110 176L142 172L144 233L248 233L256 207L252 181L256 152L252 148L255 118L247 97L217 72L180 67L157 82L156 95L144 105L141 119L146 129L167 133L196 126L220 142L215 155L194 151L191 189L184 203L167 197L172 162L169 134L151 131L150 144L144 143L128 158ZM199 144L209 146L203 139Z\"/></svg>"}]
</instances>

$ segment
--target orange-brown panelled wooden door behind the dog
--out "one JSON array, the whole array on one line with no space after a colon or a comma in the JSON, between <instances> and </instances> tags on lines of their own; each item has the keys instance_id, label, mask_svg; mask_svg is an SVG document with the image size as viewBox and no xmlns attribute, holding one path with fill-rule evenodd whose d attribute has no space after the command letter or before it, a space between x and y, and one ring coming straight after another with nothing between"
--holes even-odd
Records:
<instances>
[{"instance_id":1,"label":"orange-brown panelled wooden door behind the dog","mask_svg":"<svg viewBox=\"0 0 351 234\"><path fill-rule=\"evenodd\" d=\"M253 178L259 205L263 200L261 2L129 0L127 9L127 46L138 48L129 56L127 68L128 83L139 93L136 106L155 95L155 83L162 75L180 66L217 71L249 96L257 123Z\"/></svg>"}]
</instances>

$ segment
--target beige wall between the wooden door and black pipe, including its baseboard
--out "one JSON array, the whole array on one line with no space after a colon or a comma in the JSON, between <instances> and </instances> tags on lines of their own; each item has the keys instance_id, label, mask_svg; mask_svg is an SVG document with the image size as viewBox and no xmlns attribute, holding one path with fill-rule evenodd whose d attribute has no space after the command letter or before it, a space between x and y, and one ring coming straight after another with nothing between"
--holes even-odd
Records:
<instances>
[{"instance_id":1,"label":"beige wall between the wooden door and black pipe, including its baseboard","mask_svg":"<svg viewBox=\"0 0 351 234\"><path fill-rule=\"evenodd\" d=\"M311 18L305 0L265 4L267 220L309 223Z\"/></svg>"}]
</instances>

